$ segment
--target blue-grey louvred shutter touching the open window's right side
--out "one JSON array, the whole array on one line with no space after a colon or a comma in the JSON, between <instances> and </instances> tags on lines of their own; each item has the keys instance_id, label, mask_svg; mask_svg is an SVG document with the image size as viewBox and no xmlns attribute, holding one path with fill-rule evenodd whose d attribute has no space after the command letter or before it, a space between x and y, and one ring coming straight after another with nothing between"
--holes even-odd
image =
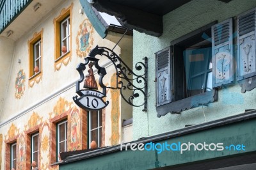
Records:
<instances>
[{"instance_id":1,"label":"blue-grey louvred shutter touching the open window's right side","mask_svg":"<svg viewBox=\"0 0 256 170\"><path fill-rule=\"evenodd\" d=\"M212 88L234 82L232 19L212 26Z\"/></svg>"}]
</instances>

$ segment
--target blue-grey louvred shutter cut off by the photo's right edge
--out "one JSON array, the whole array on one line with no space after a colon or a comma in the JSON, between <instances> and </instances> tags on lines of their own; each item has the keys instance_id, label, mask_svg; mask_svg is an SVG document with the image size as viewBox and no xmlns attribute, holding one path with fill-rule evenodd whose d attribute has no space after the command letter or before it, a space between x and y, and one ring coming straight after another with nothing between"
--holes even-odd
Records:
<instances>
[{"instance_id":1,"label":"blue-grey louvred shutter cut off by the photo's right edge","mask_svg":"<svg viewBox=\"0 0 256 170\"><path fill-rule=\"evenodd\" d=\"M237 16L237 80L256 75L255 10Z\"/></svg>"}]
</instances>

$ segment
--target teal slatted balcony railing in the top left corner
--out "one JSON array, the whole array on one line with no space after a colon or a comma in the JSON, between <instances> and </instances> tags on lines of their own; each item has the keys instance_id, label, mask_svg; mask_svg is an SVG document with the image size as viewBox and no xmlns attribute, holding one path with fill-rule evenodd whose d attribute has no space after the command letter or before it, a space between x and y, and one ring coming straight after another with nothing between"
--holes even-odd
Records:
<instances>
[{"instance_id":1,"label":"teal slatted balcony railing in the top left corner","mask_svg":"<svg viewBox=\"0 0 256 170\"><path fill-rule=\"evenodd\" d=\"M0 33L17 17L33 0L0 0Z\"/></svg>"}]
</instances>

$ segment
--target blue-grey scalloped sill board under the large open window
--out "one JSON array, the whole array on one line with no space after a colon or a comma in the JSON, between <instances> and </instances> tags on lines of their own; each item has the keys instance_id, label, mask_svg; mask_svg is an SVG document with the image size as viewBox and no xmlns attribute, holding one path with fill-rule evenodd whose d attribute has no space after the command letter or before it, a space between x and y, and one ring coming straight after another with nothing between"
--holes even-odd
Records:
<instances>
[{"instance_id":1,"label":"blue-grey scalloped sill board under the large open window","mask_svg":"<svg viewBox=\"0 0 256 170\"><path fill-rule=\"evenodd\" d=\"M211 91L206 91L205 93L195 95L193 97L184 98L176 102L156 107L157 117L160 118L161 116L165 116L168 112L175 114L200 105L207 105L217 99L218 91L216 89L212 89Z\"/></svg>"}]
</instances>

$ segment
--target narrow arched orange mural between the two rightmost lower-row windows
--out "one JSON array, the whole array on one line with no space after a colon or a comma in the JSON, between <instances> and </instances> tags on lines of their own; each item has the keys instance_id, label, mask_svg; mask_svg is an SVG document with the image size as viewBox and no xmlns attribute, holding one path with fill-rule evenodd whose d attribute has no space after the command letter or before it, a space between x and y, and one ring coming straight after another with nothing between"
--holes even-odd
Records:
<instances>
[{"instance_id":1,"label":"narrow arched orange mural between the two rightmost lower-row windows","mask_svg":"<svg viewBox=\"0 0 256 170\"><path fill-rule=\"evenodd\" d=\"M79 110L74 107L70 116L70 147L68 150L81 150L81 118L79 114Z\"/></svg>"}]
</instances>

